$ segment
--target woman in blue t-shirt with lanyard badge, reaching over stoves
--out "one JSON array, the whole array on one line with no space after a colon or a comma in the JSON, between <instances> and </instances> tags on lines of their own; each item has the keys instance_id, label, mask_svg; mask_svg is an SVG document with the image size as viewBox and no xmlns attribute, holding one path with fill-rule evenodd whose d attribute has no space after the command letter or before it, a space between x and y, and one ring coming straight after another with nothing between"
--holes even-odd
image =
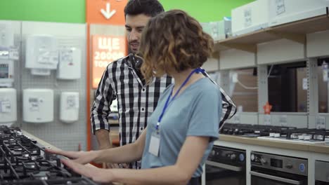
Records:
<instances>
[{"instance_id":1,"label":"woman in blue t-shirt with lanyard badge, reaching over stoves","mask_svg":"<svg viewBox=\"0 0 329 185\"><path fill-rule=\"evenodd\" d=\"M101 151L53 151L63 163L98 182L127 184L198 184L202 165L221 118L217 85L200 72L212 53L213 41L194 18L179 10L161 13L143 29L142 73L149 83L169 74L174 84L164 90L148 126L134 144ZM142 158L142 170L96 169L96 163L129 163Z\"/></svg>"}]
</instances>

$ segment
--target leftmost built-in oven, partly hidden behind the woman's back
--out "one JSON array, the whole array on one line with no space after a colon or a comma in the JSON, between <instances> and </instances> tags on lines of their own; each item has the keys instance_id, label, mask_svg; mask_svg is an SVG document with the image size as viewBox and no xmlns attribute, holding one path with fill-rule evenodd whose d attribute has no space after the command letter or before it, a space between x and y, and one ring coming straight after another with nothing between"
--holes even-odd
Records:
<instances>
[{"instance_id":1,"label":"leftmost built-in oven, partly hidden behind the woman's back","mask_svg":"<svg viewBox=\"0 0 329 185\"><path fill-rule=\"evenodd\" d=\"M205 163L206 185L245 185L245 151L214 146Z\"/></svg>"}]
</instances>

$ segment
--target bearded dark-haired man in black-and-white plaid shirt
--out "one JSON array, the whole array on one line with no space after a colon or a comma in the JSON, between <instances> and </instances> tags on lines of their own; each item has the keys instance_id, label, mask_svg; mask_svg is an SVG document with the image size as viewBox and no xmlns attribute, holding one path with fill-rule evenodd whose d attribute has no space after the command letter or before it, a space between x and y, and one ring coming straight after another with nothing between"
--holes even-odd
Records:
<instances>
[{"instance_id":1,"label":"bearded dark-haired man in black-and-white plaid shirt","mask_svg":"<svg viewBox=\"0 0 329 185\"><path fill-rule=\"evenodd\" d=\"M110 63L98 84L91 109L91 123L99 149L110 148L108 114L112 100L117 99L118 102L120 145L130 144L135 142L146 128L148 117L157 106L160 94L173 83L171 77L163 76L146 85L139 69L142 61L134 55L138 52L143 27L150 18L163 11L164 8L157 0L131 0L124 8L131 54ZM221 90L221 93L223 99L221 123L223 123L235 114L236 106L224 90ZM139 168L140 165L134 163L130 167Z\"/></svg>"}]
</instances>

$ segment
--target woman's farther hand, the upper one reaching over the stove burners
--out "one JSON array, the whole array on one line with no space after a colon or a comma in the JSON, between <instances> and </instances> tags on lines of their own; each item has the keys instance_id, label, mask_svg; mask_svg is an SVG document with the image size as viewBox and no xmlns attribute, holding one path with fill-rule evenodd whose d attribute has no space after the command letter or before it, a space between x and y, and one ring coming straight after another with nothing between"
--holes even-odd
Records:
<instances>
[{"instance_id":1,"label":"woman's farther hand, the upper one reaching over the stove burners","mask_svg":"<svg viewBox=\"0 0 329 185\"><path fill-rule=\"evenodd\" d=\"M97 151L60 151L53 149L46 149L48 153L54 153L60 156L65 156L72 159L75 163L87 164L92 162L97 157Z\"/></svg>"}]
</instances>

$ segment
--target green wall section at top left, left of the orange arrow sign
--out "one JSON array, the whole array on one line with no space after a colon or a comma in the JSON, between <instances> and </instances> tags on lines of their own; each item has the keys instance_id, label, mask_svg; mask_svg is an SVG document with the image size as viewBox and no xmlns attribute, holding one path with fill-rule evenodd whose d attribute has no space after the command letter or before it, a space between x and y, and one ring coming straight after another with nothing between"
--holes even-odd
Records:
<instances>
[{"instance_id":1,"label":"green wall section at top left, left of the orange arrow sign","mask_svg":"<svg viewBox=\"0 0 329 185\"><path fill-rule=\"evenodd\" d=\"M86 22L85 0L0 0L0 20Z\"/></svg>"}]
</instances>

